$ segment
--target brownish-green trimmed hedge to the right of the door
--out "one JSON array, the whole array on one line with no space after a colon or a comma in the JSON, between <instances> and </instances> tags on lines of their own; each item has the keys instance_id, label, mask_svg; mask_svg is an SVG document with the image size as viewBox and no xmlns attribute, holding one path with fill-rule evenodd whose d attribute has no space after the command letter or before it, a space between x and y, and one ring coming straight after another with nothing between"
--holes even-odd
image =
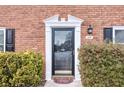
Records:
<instances>
[{"instance_id":1,"label":"brownish-green trimmed hedge to the right of the door","mask_svg":"<svg viewBox=\"0 0 124 93\"><path fill-rule=\"evenodd\" d=\"M79 60L84 86L124 86L124 46L83 45L79 49Z\"/></svg>"}]
</instances>

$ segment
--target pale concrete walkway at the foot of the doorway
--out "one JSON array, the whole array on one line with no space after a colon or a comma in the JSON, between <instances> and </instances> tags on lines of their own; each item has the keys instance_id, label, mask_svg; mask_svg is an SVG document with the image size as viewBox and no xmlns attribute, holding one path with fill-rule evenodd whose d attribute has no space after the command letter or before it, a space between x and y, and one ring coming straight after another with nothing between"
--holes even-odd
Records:
<instances>
[{"instance_id":1,"label":"pale concrete walkway at the foot of the doorway","mask_svg":"<svg viewBox=\"0 0 124 93\"><path fill-rule=\"evenodd\" d=\"M53 80L47 81L45 84L45 87L81 87L81 81L73 81L72 83L69 84L58 84L55 83Z\"/></svg>"}]
</instances>

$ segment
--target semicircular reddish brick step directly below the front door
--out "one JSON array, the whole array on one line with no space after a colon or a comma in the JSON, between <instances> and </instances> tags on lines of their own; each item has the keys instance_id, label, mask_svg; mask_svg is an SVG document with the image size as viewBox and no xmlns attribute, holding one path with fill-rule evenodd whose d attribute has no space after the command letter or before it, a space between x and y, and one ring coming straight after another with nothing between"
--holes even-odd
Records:
<instances>
[{"instance_id":1,"label":"semicircular reddish brick step directly below the front door","mask_svg":"<svg viewBox=\"0 0 124 93\"><path fill-rule=\"evenodd\" d=\"M74 80L74 77L53 77L54 82L59 84L68 84L72 83Z\"/></svg>"}]
</instances>

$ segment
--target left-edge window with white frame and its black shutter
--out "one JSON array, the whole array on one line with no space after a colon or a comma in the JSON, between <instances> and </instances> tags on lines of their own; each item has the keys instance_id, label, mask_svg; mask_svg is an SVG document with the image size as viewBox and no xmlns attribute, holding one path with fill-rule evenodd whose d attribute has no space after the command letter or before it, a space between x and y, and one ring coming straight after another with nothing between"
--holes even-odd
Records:
<instances>
[{"instance_id":1,"label":"left-edge window with white frame and its black shutter","mask_svg":"<svg viewBox=\"0 0 124 93\"><path fill-rule=\"evenodd\" d=\"M15 50L15 30L0 28L0 51Z\"/></svg>"}]
</instances>

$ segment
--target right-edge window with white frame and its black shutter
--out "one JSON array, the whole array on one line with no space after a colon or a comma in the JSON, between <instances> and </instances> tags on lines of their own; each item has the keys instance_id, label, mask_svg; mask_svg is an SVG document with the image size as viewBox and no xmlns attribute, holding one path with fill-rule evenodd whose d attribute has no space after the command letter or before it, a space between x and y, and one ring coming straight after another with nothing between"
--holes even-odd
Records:
<instances>
[{"instance_id":1,"label":"right-edge window with white frame and its black shutter","mask_svg":"<svg viewBox=\"0 0 124 93\"><path fill-rule=\"evenodd\" d=\"M104 28L104 40L113 44L124 44L124 26L113 26Z\"/></svg>"}]
</instances>

